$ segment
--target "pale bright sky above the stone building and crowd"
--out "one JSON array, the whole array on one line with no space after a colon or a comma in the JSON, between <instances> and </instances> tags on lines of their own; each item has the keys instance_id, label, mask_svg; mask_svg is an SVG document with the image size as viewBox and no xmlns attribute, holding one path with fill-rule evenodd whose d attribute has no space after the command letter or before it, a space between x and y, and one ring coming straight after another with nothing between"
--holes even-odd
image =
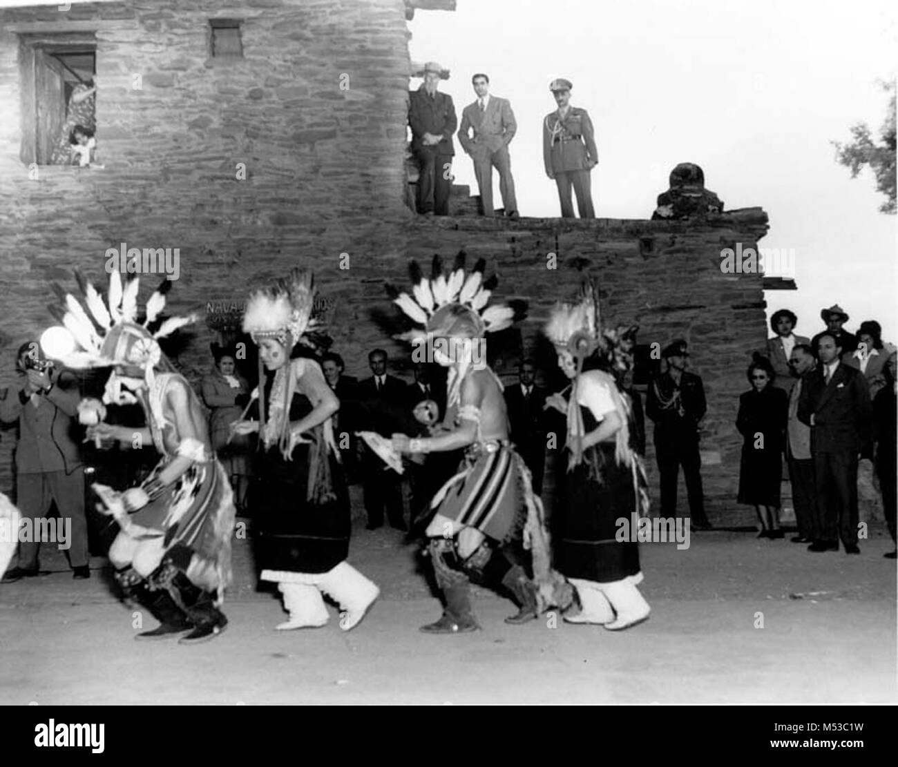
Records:
<instances>
[{"instance_id":1,"label":"pale bright sky above the stone building and crowd","mask_svg":"<svg viewBox=\"0 0 898 767\"><path fill-rule=\"evenodd\" d=\"M409 22L412 61L450 70L441 90L462 108L471 75L510 99L510 146L522 215L559 215L542 167L541 121L555 109L549 83L565 77L571 103L593 120L601 218L650 218L679 162L695 162L725 210L761 206L764 248L794 250L797 291L768 291L768 316L798 315L797 333L822 329L841 305L855 330L877 319L898 341L896 217L868 171L851 179L832 141L867 122L878 136L895 76L894 0L457 0L454 12ZM417 88L420 80L413 79ZM456 141L456 184L477 193ZM494 199L501 205L497 174Z\"/></svg>"}]
</instances>

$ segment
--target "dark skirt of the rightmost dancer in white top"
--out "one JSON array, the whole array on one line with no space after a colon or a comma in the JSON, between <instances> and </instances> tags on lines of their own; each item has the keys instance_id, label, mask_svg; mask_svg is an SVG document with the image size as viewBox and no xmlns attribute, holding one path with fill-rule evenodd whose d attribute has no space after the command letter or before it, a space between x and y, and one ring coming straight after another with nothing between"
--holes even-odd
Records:
<instances>
[{"instance_id":1,"label":"dark skirt of the rightmost dancer in white top","mask_svg":"<svg viewBox=\"0 0 898 767\"><path fill-rule=\"evenodd\" d=\"M568 578L599 583L636 575L637 543L615 538L618 519L626 519L629 529L637 506L632 474L627 466L618 465L614 445L586 450L583 463L571 472L567 453L557 463L556 568Z\"/></svg>"}]
</instances>

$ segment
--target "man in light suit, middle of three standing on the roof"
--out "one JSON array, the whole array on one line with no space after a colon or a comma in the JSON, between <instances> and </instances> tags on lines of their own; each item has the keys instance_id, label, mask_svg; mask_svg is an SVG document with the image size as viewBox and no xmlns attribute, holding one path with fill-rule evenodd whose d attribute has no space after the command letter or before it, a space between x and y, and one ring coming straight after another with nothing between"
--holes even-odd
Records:
<instances>
[{"instance_id":1,"label":"man in light suit, middle of three standing on the roof","mask_svg":"<svg viewBox=\"0 0 898 767\"><path fill-rule=\"evenodd\" d=\"M492 216L493 210L493 166L499 171L499 192L505 214L517 220L517 200L515 179L511 175L511 157L508 144L515 137L517 123L511 102L489 93L489 77L475 74L471 78L477 100L462 110L462 126L458 140L464 151L474 161L474 176L480 187L480 214ZM474 131L471 137L471 130Z\"/></svg>"}]
</instances>

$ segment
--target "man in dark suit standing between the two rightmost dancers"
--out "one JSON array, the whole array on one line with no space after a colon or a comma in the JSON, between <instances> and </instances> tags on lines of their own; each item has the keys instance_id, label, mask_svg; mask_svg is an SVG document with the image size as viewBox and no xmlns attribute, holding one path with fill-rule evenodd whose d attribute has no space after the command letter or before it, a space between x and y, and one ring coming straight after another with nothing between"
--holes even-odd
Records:
<instances>
[{"instance_id":1,"label":"man in dark suit standing between the two rightmost dancers","mask_svg":"<svg viewBox=\"0 0 898 767\"><path fill-rule=\"evenodd\" d=\"M533 475L533 492L542 492L546 461L546 426L543 407L548 389L536 386L536 365L524 360L517 369L518 383L505 390L511 440Z\"/></svg>"}]
</instances>

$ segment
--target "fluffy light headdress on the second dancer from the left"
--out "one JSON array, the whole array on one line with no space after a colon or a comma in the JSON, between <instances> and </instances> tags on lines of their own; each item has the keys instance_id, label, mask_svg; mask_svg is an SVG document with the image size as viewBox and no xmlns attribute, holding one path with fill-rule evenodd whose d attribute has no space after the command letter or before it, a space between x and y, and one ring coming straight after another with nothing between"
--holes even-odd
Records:
<instances>
[{"instance_id":1,"label":"fluffy light headdress on the second dancer from the left","mask_svg":"<svg viewBox=\"0 0 898 767\"><path fill-rule=\"evenodd\" d=\"M312 273L293 269L286 279L251 292L243 314L243 332L253 341L277 338L281 344L289 343L289 353L293 344L304 341L304 335L317 327L312 319L314 299Z\"/></svg>"}]
</instances>

